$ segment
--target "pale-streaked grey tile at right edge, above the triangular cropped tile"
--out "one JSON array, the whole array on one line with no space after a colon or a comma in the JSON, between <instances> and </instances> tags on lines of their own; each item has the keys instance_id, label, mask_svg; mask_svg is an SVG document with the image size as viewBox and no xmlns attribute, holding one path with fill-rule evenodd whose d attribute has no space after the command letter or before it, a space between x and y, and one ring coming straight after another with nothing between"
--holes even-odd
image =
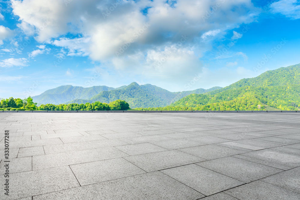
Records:
<instances>
[{"instance_id":1,"label":"pale-streaked grey tile at right edge, above the triangular cropped tile","mask_svg":"<svg viewBox=\"0 0 300 200\"><path fill-rule=\"evenodd\" d=\"M278 165L288 166L291 168L300 166L300 150L298 149L275 147L253 151L241 155L267 161L270 163L275 163Z\"/></svg>"}]
</instances>

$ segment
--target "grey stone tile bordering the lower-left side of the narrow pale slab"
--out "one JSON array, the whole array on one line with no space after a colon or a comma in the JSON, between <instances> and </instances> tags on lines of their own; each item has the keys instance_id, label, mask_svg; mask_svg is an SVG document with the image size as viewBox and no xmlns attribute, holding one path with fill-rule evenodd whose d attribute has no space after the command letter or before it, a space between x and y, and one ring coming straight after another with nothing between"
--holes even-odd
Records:
<instances>
[{"instance_id":1,"label":"grey stone tile bordering the lower-left side of the narrow pale slab","mask_svg":"<svg viewBox=\"0 0 300 200\"><path fill-rule=\"evenodd\" d=\"M204 158L205 160L211 160L211 159L245 153L245 151L222 147L219 145L203 145L198 147L179 149L179 151Z\"/></svg>"}]
</instances>

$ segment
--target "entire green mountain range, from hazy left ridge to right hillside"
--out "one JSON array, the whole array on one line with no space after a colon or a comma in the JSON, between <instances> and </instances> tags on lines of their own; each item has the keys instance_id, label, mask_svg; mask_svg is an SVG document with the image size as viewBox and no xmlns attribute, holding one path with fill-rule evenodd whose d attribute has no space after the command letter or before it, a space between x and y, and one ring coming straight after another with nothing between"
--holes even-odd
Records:
<instances>
[{"instance_id":1,"label":"entire green mountain range, from hazy left ridge to right hillside","mask_svg":"<svg viewBox=\"0 0 300 200\"><path fill-rule=\"evenodd\" d=\"M121 99L128 102L132 109L164 106L175 109L174 106L179 106L196 110L298 110L300 64L270 70L255 78L241 79L225 88L170 92L155 85L139 85L136 82L119 88L64 85L32 98L38 104L110 103Z\"/></svg>"}]
</instances>

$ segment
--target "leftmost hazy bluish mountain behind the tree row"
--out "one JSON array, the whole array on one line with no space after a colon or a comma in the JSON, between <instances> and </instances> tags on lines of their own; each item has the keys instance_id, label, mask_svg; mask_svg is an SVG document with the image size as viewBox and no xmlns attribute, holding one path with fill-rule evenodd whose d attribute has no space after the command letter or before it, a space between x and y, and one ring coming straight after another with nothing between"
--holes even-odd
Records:
<instances>
[{"instance_id":1,"label":"leftmost hazy bluish mountain behind the tree row","mask_svg":"<svg viewBox=\"0 0 300 200\"><path fill-rule=\"evenodd\" d=\"M32 97L33 101L40 104L61 104L74 99L89 99L102 91L110 91L115 88L107 86L93 86L83 88L72 85L62 85L54 89L47 90L40 95Z\"/></svg>"}]
</instances>

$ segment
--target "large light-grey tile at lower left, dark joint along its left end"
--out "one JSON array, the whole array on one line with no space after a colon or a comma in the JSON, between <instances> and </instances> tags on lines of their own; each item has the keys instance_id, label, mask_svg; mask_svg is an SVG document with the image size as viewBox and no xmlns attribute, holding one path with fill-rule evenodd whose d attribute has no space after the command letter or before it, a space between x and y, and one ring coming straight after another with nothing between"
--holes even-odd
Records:
<instances>
[{"instance_id":1,"label":"large light-grey tile at lower left, dark joint along its left end","mask_svg":"<svg viewBox=\"0 0 300 200\"><path fill-rule=\"evenodd\" d=\"M81 186L146 173L124 158L70 165Z\"/></svg>"}]
</instances>

